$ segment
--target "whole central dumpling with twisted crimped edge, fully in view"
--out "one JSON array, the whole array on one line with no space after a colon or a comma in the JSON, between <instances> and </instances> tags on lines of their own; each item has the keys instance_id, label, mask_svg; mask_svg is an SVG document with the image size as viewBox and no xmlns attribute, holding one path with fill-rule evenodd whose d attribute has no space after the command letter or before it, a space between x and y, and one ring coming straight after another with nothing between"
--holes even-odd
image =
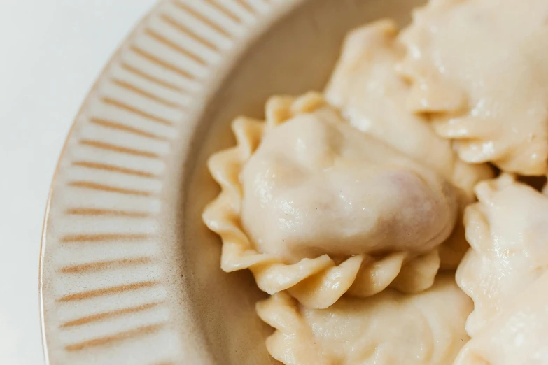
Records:
<instances>
[{"instance_id":1,"label":"whole central dumpling with twisted crimped edge, fully in view","mask_svg":"<svg viewBox=\"0 0 548 365\"><path fill-rule=\"evenodd\" d=\"M451 185L319 94L273 98L266 115L236 120L237 147L209 161L222 192L204 222L223 239L222 269L249 268L260 289L311 308L430 287L456 220Z\"/></svg>"}]
</instances>

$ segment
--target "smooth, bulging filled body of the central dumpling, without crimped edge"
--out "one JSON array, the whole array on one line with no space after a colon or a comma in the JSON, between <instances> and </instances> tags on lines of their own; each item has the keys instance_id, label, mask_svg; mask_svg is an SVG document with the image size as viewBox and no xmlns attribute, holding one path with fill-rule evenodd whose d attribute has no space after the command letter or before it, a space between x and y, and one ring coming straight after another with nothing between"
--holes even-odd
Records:
<instances>
[{"instance_id":1,"label":"smooth, bulging filled body of the central dumpling, without crimped edge","mask_svg":"<svg viewBox=\"0 0 548 365\"><path fill-rule=\"evenodd\" d=\"M429 252L451 233L454 189L323 106L269 129L240 175L241 223L259 252Z\"/></svg>"}]
</instances>

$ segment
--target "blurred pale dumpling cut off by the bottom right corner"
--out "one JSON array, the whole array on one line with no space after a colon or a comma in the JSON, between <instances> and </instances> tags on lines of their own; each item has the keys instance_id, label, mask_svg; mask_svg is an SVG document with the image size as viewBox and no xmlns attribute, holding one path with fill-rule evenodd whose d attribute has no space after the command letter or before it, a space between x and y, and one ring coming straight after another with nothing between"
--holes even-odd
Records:
<instances>
[{"instance_id":1,"label":"blurred pale dumpling cut off by the bottom right corner","mask_svg":"<svg viewBox=\"0 0 548 365\"><path fill-rule=\"evenodd\" d=\"M548 364L548 273L508 299L498 317L468 341L454 365Z\"/></svg>"}]
</instances>

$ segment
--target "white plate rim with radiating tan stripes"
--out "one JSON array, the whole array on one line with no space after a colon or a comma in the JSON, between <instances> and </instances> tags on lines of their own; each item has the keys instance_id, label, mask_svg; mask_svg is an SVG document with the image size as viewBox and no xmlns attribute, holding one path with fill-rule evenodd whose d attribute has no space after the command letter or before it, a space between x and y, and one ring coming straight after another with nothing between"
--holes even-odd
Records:
<instances>
[{"instance_id":1,"label":"white plate rim with radiating tan stripes","mask_svg":"<svg viewBox=\"0 0 548 365\"><path fill-rule=\"evenodd\" d=\"M115 53L69 132L40 259L51 364L188 364L164 284L160 217L174 143L246 45L302 0L163 0ZM198 341L198 340L196 340Z\"/></svg>"}]
</instances>

